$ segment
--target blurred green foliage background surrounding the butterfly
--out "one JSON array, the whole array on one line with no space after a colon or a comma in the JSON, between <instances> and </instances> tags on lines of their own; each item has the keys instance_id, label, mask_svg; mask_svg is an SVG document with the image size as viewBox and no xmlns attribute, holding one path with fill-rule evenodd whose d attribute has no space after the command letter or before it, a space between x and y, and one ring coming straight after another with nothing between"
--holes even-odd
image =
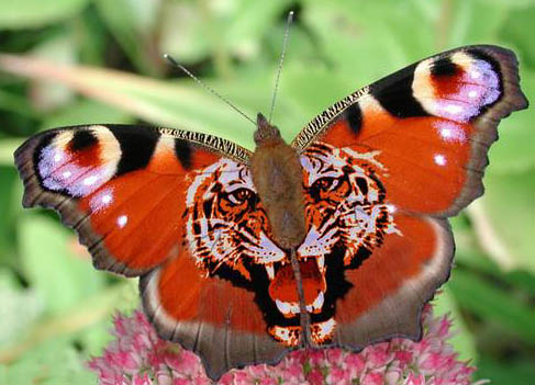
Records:
<instances>
[{"instance_id":1,"label":"blurred green foliage background surrounding the butterfly","mask_svg":"<svg viewBox=\"0 0 535 385\"><path fill-rule=\"evenodd\" d=\"M275 122L312 116L391 71L464 44L516 52L535 94L533 0L0 0L0 384L94 384L135 282L92 269L54 214L22 211L12 152L44 128L143 122L253 148L252 126L170 68L169 53L248 115L267 112L288 11L297 12ZM69 67L63 67L68 65ZM453 220L457 254L435 303L476 377L535 377L535 113L513 114L490 151L486 195Z\"/></svg>"}]
</instances>

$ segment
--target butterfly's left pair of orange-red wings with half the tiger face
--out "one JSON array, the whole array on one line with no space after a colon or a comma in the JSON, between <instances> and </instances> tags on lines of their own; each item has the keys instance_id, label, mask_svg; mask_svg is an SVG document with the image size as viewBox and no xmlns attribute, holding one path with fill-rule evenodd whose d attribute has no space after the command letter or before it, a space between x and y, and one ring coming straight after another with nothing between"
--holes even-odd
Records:
<instances>
[{"instance_id":1,"label":"butterfly's left pair of orange-red wings with half the tiger face","mask_svg":"<svg viewBox=\"0 0 535 385\"><path fill-rule=\"evenodd\" d=\"M243 181L248 157L205 134L91 125L30 138L15 163L24 206L59 212L98 269L141 275L158 332L199 352L216 377L286 351L266 332L248 267L225 254L242 231L232 213L254 195ZM233 274L241 287L226 280Z\"/></svg>"}]
</instances>

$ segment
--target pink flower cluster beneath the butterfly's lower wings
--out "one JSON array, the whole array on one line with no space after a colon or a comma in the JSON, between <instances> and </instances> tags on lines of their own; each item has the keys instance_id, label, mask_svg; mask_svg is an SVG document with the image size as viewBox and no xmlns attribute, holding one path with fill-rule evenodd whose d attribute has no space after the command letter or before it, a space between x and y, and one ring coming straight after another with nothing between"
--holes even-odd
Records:
<instances>
[{"instance_id":1,"label":"pink flower cluster beneath the butterfly's lower wings","mask_svg":"<svg viewBox=\"0 0 535 385\"><path fill-rule=\"evenodd\" d=\"M424 337L420 342L392 339L369 346L359 353L342 349L296 351L278 365L255 365L233 370L221 385L339 384L339 385L469 385L473 367L457 360L447 342L450 320L423 313ZM204 385L207 377L199 358L176 343L161 340L137 310L131 317L116 315L110 343L89 367L100 385ZM482 384L483 382L479 382Z\"/></svg>"}]
</instances>

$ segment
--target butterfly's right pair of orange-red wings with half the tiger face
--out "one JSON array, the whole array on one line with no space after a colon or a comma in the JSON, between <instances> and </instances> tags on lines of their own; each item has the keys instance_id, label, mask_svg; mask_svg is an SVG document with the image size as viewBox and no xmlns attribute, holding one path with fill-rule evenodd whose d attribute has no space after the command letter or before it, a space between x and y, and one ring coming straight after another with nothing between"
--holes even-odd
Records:
<instances>
[{"instance_id":1,"label":"butterfly's right pair of orange-red wings with half the tiger face","mask_svg":"<svg viewBox=\"0 0 535 385\"><path fill-rule=\"evenodd\" d=\"M419 312L449 276L447 217L482 194L498 123L526 106L514 54L468 46L365 87L298 135L319 233L301 256L320 254L312 241L330 235L325 303L312 316L313 327L331 322L325 341L420 336Z\"/></svg>"}]
</instances>

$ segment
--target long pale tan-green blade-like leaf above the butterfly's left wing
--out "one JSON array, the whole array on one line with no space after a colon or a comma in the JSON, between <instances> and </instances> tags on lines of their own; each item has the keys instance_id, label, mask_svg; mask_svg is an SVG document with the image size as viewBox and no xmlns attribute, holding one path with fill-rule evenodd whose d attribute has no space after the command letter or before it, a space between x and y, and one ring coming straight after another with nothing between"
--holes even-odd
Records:
<instances>
[{"instance_id":1,"label":"long pale tan-green blade-like leaf above the butterfly's left wing","mask_svg":"<svg viewBox=\"0 0 535 385\"><path fill-rule=\"evenodd\" d=\"M33 79L58 81L154 124L215 134L254 148L250 122L191 81L157 81L113 70L63 67L13 55L0 55L0 68ZM256 116L258 106L250 107L250 101L248 104L242 110Z\"/></svg>"}]
</instances>

